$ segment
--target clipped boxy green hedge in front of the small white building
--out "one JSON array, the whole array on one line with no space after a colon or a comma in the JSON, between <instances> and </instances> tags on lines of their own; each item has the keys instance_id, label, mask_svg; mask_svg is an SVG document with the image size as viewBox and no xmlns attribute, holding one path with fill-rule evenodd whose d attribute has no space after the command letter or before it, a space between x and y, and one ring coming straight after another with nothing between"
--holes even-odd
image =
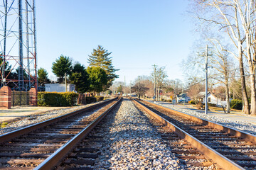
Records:
<instances>
[{"instance_id":1,"label":"clipped boxy green hedge in front of the small white building","mask_svg":"<svg viewBox=\"0 0 256 170\"><path fill-rule=\"evenodd\" d=\"M38 92L38 106L74 106L77 100L74 92Z\"/></svg>"}]
</instances>

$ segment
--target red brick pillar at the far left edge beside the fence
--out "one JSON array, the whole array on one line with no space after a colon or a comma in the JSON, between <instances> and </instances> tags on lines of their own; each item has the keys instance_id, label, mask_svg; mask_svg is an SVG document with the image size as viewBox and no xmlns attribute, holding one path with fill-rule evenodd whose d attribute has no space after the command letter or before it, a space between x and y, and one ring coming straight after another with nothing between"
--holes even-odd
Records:
<instances>
[{"instance_id":1,"label":"red brick pillar at the far left edge beside the fence","mask_svg":"<svg viewBox=\"0 0 256 170\"><path fill-rule=\"evenodd\" d=\"M0 107L5 109L11 108L11 89L9 86L2 86L0 89Z\"/></svg>"}]
</instances>

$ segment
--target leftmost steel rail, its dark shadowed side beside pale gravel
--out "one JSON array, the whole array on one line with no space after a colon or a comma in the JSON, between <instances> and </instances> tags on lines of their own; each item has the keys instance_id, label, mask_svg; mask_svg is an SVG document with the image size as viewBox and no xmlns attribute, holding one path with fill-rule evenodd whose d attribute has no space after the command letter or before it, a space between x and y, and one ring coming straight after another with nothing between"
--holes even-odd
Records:
<instances>
[{"instance_id":1,"label":"leftmost steel rail, its dark shadowed side beside pale gravel","mask_svg":"<svg viewBox=\"0 0 256 170\"><path fill-rule=\"evenodd\" d=\"M112 98L110 100L103 101L101 103L96 103L95 105L89 106L87 108L82 108L82 109L80 109L78 111L73 111L73 112L65 114L65 115L60 115L60 116L58 116L56 118L51 118L49 120L45 120L45 121L43 121L41 123L36 123L36 124L33 124L33 125L29 125L29 126L27 126L25 128L21 128L21 129L18 129L18 130L7 132L4 135L0 135L0 143L9 141L9 140L13 139L14 137L19 137L19 136L24 135L24 134L26 134L28 132L32 132L33 130L37 130L38 128L43 128L43 127L45 127L47 125L50 125L52 123L56 123L56 122L58 122L60 120L68 118L70 116L73 116L73 115L76 115L76 114L88 111L88 110L90 110L92 108L95 108L97 106L102 106L103 104L109 103L110 101L114 101L115 99L116 98Z\"/></svg>"}]
</instances>

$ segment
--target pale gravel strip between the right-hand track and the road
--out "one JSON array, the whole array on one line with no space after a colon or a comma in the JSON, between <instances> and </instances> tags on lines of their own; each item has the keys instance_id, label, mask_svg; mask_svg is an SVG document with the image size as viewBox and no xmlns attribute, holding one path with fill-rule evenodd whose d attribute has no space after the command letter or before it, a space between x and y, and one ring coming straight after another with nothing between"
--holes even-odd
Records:
<instances>
[{"instance_id":1,"label":"pale gravel strip between the right-hand track and the road","mask_svg":"<svg viewBox=\"0 0 256 170\"><path fill-rule=\"evenodd\" d=\"M196 111L191 111L191 110L188 110L188 109L183 109L183 108L178 108L172 104L169 104L169 105L162 105L160 103L156 103L160 106L164 106L164 107L167 107L167 108L171 108L171 109L174 109L176 111L180 111L180 112L183 112L183 113L187 113L189 115L196 115L198 118L203 118L203 119L206 119L206 120L210 120L210 121L213 121L215 123L220 123L222 125L226 125L226 126L229 126L231 128L236 128L238 130L242 130L244 132L248 132L250 134L253 134L253 135L256 135L256 125L253 125L252 123L248 123L248 122L245 122L245 121L238 121L238 120L228 120L228 119L224 119L224 118L219 118L218 116L215 116L215 115L205 115L205 114L202 114L202 113L198 113Z\"/></svg>"}]
</instances>

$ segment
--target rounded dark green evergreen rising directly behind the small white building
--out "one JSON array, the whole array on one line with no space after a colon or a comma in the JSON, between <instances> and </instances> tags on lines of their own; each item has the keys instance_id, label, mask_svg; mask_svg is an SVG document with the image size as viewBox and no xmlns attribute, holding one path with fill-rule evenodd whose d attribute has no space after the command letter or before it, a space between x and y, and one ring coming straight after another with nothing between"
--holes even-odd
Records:
<instances>
[{"instance_id":1,"label":"rounded dark green evergreen rising directly behind the small white building","mask_svg":"<svg viewBox=\"0 0 256 170\"><path fill-rule=\"evenodd\" d=\"M58 83L64 82L65 74L70 74L72 69L72 62L69 57L60 55L60 57L53 62L53 73L58 77Z\"/></svg>"}]
</instances>

